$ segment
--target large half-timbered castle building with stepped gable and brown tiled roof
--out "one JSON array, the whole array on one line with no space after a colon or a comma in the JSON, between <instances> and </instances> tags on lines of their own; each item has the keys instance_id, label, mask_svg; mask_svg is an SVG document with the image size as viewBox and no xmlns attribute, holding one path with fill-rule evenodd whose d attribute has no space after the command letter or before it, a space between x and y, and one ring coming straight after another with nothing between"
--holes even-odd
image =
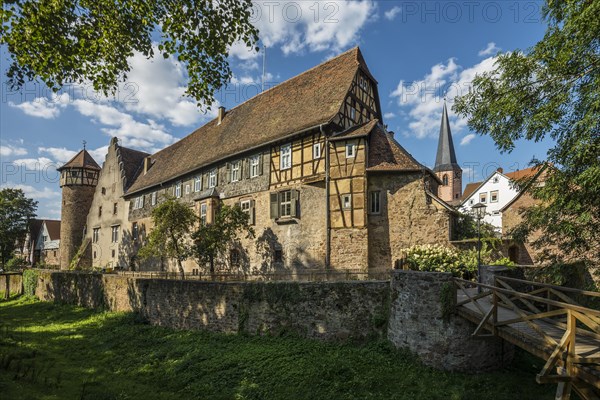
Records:
<instances>
[{"instance_id":1,"label":"large half-timbered castle building with stepped gable and brown tiled roof","mask_svg":"<svg viewBox=\"0 0 600 400\"><path fill-rule=\"evenodd\" d=\"M442 180L394 139L382 114L377 81L354 48L220 108L155 154L113 139L89 194L82 247L91 243L94 267L175 271L169 260L136 257L167 197L206 223L221 204L248 213L256 237L230 243L218 271L389 269L403 248L447 244L455 211L437 195ZM193 260L184 269L206 271Z\"/></svg>"}]
</instances>

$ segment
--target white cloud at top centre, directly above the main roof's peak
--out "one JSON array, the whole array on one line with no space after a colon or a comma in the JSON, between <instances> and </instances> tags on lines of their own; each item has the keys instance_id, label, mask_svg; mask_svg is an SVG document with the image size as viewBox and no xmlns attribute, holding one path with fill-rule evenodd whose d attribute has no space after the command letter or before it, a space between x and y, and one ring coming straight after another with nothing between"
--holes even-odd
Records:
<instances>
[{"instance_id":1,"label":"white cloud at top centre, directly above the main roof's peak","mask_svg":"<svg viewBox=\"0 0 600 400\"><path fill-rule=\"evenodd\" d=\"M308 49L338 52L358 39L360 30L375 18L373 0L255 1L255 26L267 48L285 54Z\"/></svg>"}]
</instances>

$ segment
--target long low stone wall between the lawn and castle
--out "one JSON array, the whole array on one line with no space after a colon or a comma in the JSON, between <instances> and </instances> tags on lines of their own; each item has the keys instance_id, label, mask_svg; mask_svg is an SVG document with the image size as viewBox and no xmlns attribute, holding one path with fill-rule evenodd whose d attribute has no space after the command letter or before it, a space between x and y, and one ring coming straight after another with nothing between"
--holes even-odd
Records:
<instances>
[{"instance_id":1,"label":"long low stone wall between the lawn and castle","mask_svg":"<svg viewBox=\"0 0 600 400\"><path fill-rule=\"evenodd\" d=\"M386 281L216 283L40 272L46 301L139 312L154 325L213 332L293 332L325 340L385 335Z\"/></svg>"}]
</instances>

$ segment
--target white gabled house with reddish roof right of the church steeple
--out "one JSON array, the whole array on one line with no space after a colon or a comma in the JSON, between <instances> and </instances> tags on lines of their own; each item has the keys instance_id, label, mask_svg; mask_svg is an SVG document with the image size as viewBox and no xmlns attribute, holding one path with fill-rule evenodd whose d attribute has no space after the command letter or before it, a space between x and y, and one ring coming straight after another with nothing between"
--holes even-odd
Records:
<instances>
[{"instance_id":1,"label":"white gabled house with reddish roof right of the church steeple","mask_svg":"<svg viewBox=\"0 0 600 400\"><path fill-rule=\"evenodd\" d=\"M484 221L492 224L499 233L502 233L501 210L519 194L514 187L514 181L532 177L535 173L534 168L526 168L504 174L502 168L498 168L484 181L469 183L465 187L460 211L470 213L475 204L485 204L487 208Z\"/></svg>"}]
</instances>

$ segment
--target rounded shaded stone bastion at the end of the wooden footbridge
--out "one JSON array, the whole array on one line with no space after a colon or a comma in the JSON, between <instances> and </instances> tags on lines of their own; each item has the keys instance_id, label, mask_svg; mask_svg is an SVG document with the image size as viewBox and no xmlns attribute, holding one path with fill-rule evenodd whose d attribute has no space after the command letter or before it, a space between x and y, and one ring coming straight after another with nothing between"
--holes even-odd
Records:
<instances>
[{"instance_id":1,"label":"rounded shaded stone bastion at the end of the wooden footbridge","mask_svg":"<svg viewBox=\"0 0 600 400\"><path fill-rule=\"evenodd\" d=\"M395 271L388 339L444 370L485 371L510 361L512 346L497 337L472 338L474 324L452 313L444 315L444 303L456 299L451 279L448 273ZM448 290L451 296L445 298Z\"/></svg>"}]
</instances>

